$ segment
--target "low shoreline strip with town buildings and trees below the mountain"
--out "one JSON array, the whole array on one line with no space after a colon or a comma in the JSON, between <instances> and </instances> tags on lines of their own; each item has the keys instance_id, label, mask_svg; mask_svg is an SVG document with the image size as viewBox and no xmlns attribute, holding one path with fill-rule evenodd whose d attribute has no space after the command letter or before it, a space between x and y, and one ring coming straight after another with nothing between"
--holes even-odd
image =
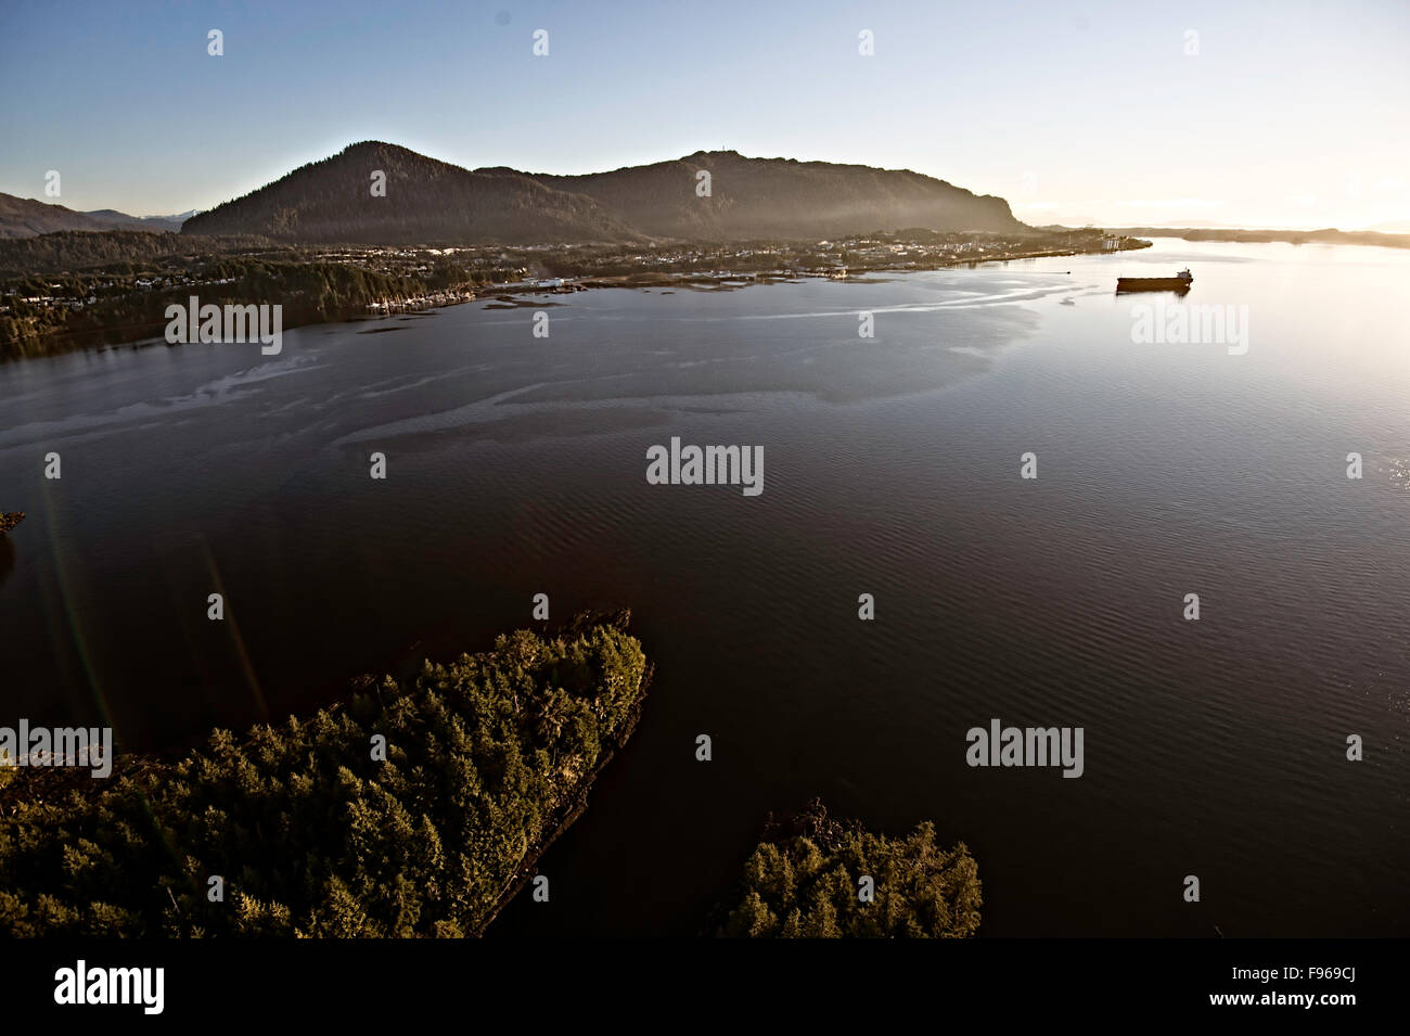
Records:
<instances>
[{"instance_id":1,"label":"low shoreline strip with town buildings and trees below the mountain","mask_svg":"<svg viewBox=\"0 0 1410 1036\"><path fill-rule=\"evenodd\" d=\"M1149 241L1091 227L1024 234L918 228L811 242L653 241L646 247L241 248L220 238L169 234L169 254L85 262L82 238L103 235L70 237L78 238L78 258L49 264L51 272L21 272L25 268L13 257L7 262L0 249L0 357L140 341L161 333L166 304L196 290L233 302L282 303L286 326L296 326L477 299L523 304L526 296L595 288L729 290L1149 247ZM144 244L152 238L140 237L147 238Z\"/></svg>"}]
</instances>

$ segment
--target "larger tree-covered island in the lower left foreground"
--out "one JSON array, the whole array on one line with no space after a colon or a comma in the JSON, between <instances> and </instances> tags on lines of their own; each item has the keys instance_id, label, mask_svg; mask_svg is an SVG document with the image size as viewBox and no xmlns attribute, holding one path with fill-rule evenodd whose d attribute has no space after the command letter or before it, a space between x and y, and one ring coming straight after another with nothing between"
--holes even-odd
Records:
<instances>
[{"instance_id":1,"label":"larger tree-covered island in the lower left foreground","mask_svg":"<svg viewBox=\"0 0 1410 1036\"><path fill-rule=\"evenodd\" d=\"M627 622L517 630L110 779L0 765L0 935L479 935L636 726Z\"/></svg>"}]
</instances>

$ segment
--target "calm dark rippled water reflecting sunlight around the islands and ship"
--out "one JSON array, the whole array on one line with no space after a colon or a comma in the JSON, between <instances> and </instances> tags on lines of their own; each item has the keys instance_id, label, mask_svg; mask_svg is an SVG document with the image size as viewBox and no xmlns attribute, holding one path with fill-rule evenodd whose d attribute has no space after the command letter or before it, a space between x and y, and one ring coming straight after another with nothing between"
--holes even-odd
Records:
<instances>
[{"instance_id":1,"label":"calm dark rippled water reflecting sunlight around the islands and ship","mask_svg":"<svg viewBox=\"0 0 1410 1036\"><path fill-rule=\"evenodd\" d=\"M1184 265L1183 303L1112 295ZM1392 249L1162 240L578 293L546 340L475 303L272 358L8 364L0 724L179 746L486 647L544 592L632 608L657 679L501 933L694 935L764 815L821 795L964 840L988 936L1410 935L1407 285ZM1248 351L1134 343L1158 300L1246 306ZM673 436L761 445L764 492L647 485ZM1083 727L1083 777L967 767L994 717Z\"/></svg>"}]
</instances>

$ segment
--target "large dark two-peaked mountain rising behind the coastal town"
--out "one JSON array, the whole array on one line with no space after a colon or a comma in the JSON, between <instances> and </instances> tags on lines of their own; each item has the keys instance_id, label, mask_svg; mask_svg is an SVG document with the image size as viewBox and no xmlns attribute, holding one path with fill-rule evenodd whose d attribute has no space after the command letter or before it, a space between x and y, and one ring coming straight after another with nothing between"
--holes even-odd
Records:
<instances>
[{"instance_id":1,"label":"large dark two-peaked mountain rising behind the coastal town","mask_svg":"<svg viewBox=\"0 0 1410 1036\"><path fill-rule=\"evenodd\" d=\"M385 196L372 175L385 173ZM701 172L709 173L702 196ZM1001 197L863 165L701 151L585 176L462 169L365 141L193 216L183 234L295 244L818 240L877 230L1025 231Z\"/></svg>"}]
</instances>

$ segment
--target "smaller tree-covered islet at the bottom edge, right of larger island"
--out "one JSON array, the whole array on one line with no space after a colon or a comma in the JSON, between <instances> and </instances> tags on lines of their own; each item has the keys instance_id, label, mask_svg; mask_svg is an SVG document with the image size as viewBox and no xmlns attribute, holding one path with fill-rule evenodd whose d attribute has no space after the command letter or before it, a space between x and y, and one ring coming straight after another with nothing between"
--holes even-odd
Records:
<instances>
[{"instance_id":1,"label":"smaller tree-covered islet at the bottom edge, right of larger island","mask_svg":"<svg viewBox=\"0 0 1410 1036\"><path fill-rule=\"evenodd\" d=\"M980 891L969 849L936 846L932 823L888 839L829 818L814 799L792 818L768 819L712 935L966 939L979 929Z\"/></svg>"}]
</instances>

